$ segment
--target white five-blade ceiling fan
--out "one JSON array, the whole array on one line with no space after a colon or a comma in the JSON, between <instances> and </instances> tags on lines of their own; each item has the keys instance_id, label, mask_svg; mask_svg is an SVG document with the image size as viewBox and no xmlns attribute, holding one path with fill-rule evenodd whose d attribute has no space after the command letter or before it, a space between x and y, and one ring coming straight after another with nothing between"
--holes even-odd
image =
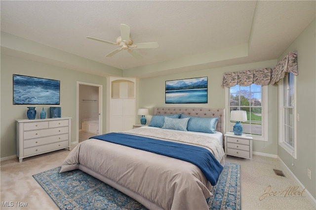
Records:
<instances>
[{"instance_id":1,"label":"white five-blade ceiling fan","mask_svg":"<svg viewBox=\"0 0 316 210\"><path fill-rule=\"evenodd\" d=\"M130 34L130 28L129 26L125 24L120 25L120 36L117 38L117 42L111 42L111 41L106 41L98 38L93 38L90 36L87 36L88 39L92 39L95 41L100 41L104 42L107 44L113 44L118 46L119 48L112 51L111 53L107 54L106 57L111 57L115 54L117 54L121 50L127 50L128 53L130 53L134 58L136 59L141 59L142 56L136 52L134 49L144 49L144 48L158 48L158 43L157 42L146 42L146 43L134 43L133 40L129 37Z\"/></svg>"}]
</instances>

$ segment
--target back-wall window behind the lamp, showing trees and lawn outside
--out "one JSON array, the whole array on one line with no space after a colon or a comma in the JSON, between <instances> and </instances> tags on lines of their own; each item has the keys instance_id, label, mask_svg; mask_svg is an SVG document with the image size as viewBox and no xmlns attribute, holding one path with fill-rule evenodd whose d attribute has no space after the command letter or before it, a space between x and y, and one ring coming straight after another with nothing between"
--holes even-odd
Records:
<instances>
[{"instance_id":1,"label":"back-wall window behind the lamp, showing trees and lawn outside","mask_svg":"<svg viewBox=\"0 0 316 210\"><path fill-rule=\"evenodd\" d=\"M253 139L268 141L268 86L251 84L246 87L236 85L226 88L229 99L226 103L229 131L233 132L235 121L230 121L230 111L244 110L247 121L241 122L243 133L251 134Z\"/></svg>"}]
</instances>

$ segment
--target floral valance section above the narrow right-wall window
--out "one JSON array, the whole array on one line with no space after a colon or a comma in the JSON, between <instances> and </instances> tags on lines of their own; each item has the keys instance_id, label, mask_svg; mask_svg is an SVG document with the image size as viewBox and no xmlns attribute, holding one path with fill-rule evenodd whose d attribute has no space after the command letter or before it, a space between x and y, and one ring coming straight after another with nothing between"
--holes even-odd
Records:
<instances>
[{"instance_id":1,"label":"floral valance section above the narrow right-wall window","mask_svg":"<svg viewBox=\"0 0 316 210\"><path fill-rule=\"evenodd\" d=\"M271 84L275 84L280 79L283 79L288 72L298 75L296 51L289 52L276 64L276 67L274 67L272 70Z\"/></svg>"}]
</instances>

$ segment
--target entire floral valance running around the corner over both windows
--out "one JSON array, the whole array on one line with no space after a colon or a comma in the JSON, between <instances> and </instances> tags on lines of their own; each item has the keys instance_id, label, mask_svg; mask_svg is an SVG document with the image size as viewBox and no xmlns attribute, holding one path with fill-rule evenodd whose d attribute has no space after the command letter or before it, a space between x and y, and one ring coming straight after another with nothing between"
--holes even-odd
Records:
<instances>
[{"instance_id":1,"label":"entire floral valance running around the corner over both windows","mask_svg":"<svg viewBox=\"0 0 316 210\"><path fill-rule=\"evenodd\" d=\"M298 75L297 70L297 52L289 52L282 60L280 60L276 67L263 68L238 72L226 72L224 73L222 86L227 88L239 86L249 86L252 83L256 85L268 85L275 84L282 79L287 72L292 72L294 75Z\"/></svg>"}]
</instances>

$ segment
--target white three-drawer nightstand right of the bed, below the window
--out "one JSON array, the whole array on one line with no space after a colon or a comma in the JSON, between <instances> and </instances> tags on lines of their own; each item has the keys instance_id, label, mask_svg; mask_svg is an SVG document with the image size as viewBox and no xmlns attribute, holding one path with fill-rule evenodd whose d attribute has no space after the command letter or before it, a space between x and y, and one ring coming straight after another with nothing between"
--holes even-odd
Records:
<instances>
[{"instance_id":1,"label":"white three-drawer nightstand right of the bed, below the window","mask_svg":"<svg viewBox=\"0 0 316 210\"><path fill-rule=\"evenodd\" d=\"M250 134L225 134L225 154L252 159L252 136Z\"/></svg>"}]
</instances>

